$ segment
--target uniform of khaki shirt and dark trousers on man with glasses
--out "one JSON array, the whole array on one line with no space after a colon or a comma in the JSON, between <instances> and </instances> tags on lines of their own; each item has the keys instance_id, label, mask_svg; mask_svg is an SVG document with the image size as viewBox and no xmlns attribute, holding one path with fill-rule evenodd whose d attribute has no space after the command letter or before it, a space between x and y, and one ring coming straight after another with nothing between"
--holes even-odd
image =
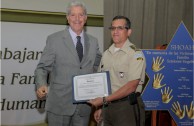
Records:
<instances>
[{"instance_id":1,"label":"uniform of khaki shirt and dark trousers on man with glasses","mask_svg":"<svg viewBox=\"0 0 194 126\"><path fill-rule=\"evenodd\" d=\"M122 48L117 49L112 44L104 52L99 71L110 72L112 93L127 82L137 79L140 82L136 92L141 92L145 79L145 66L145 57L142 51L127 40ZM145 123L145 110L141 96L137 97L137 104L131 105L129 103L129 101L110 103L103 110L104 126L112 126L110 122L114 122L118 126L140 126L140 124L143 126ZM137 123L139 124L137 125Z\"/></svg>"}]
</instances>

